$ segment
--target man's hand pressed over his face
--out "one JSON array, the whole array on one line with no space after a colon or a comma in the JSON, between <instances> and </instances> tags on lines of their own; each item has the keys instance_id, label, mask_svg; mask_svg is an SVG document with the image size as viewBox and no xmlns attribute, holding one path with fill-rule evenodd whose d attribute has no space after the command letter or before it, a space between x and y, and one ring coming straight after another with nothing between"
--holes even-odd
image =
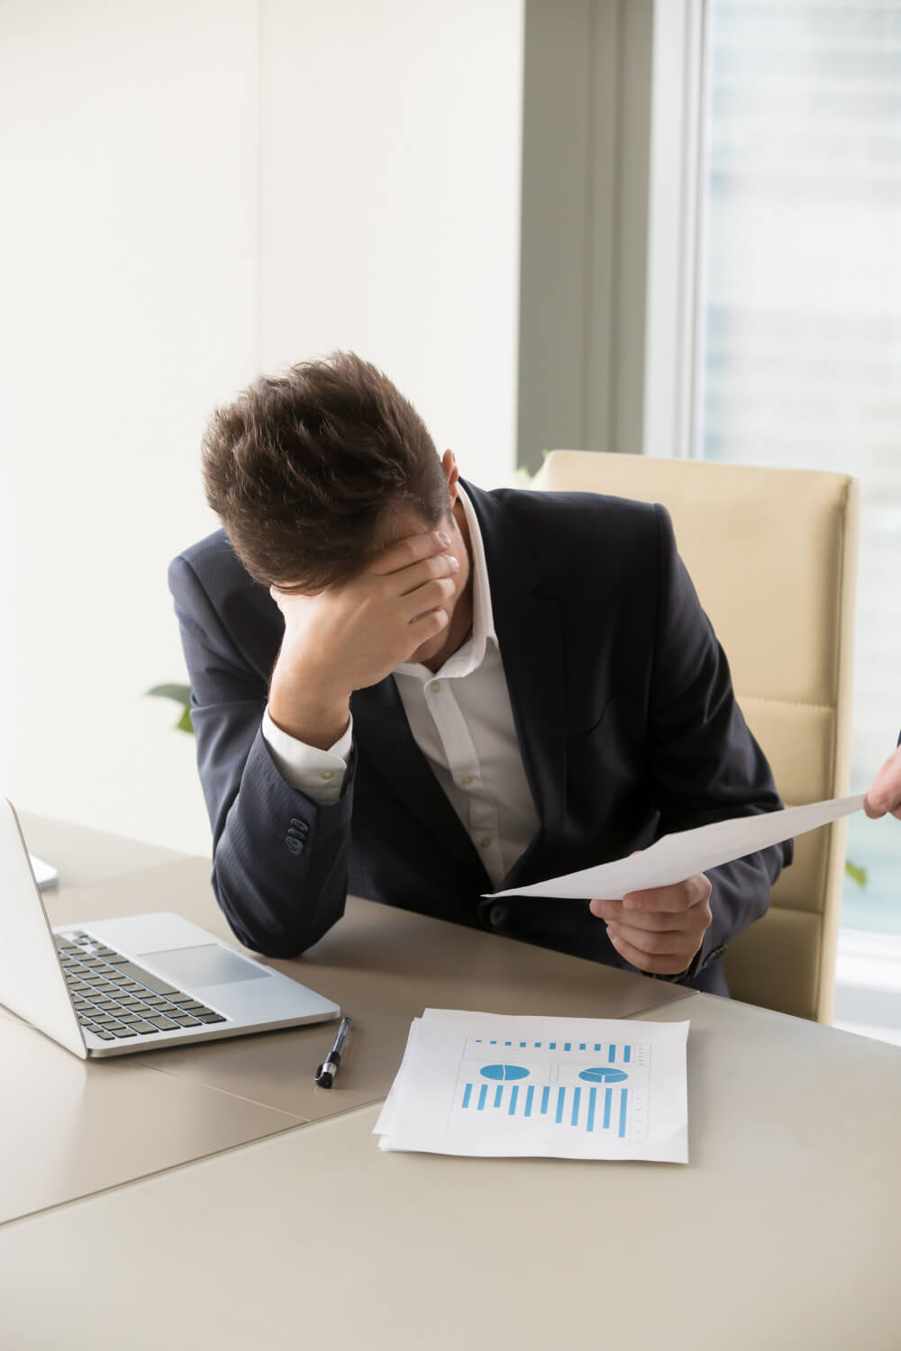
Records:
<instances>
[{"instance_id":1,"label":"man's hand pressed over his face","mask_svg":"<svg viewBox=\"0 0 901 1351\"><path fill-rule=\"evenodd\" d=\"M347 728L350 696L377 685L447 627L459 561L443 531L398 539L350 581L316 593L270 593L285 636L269 715L290 736L328 748Z\"/></svg>"}]
</instances>

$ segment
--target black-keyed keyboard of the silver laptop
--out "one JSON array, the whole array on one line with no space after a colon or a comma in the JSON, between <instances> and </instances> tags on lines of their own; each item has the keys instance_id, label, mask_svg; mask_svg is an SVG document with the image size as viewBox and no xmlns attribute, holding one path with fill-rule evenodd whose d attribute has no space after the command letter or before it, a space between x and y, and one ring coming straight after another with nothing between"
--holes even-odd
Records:
<instances>
[{"instance_id":1,"label":"black-keyed keyboard of the silver laptop","mask_svg":"<svg viewBox=\"0 0 901 1351\"><path fill-rule=\"evenodd\" d=\"M54 939L78 1021L101 1042L227 1021L88 934L54 934Z\"/></svg>"}]
</instances>

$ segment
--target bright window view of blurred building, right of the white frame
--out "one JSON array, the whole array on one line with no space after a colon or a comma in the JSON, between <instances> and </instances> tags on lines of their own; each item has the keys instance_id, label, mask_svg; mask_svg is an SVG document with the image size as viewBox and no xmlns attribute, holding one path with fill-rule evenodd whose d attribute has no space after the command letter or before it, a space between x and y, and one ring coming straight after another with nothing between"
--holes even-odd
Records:
<instances>
[{"instance_id":1,"label":"bright window view of blurred building, right of the white frame","mask_svg":"<svg viewBox=\"0 0 901 1351\"><path fill-rule=\"evenodd\" d=\"M694 453L860 481L851 790L901 730L901 0L708 0ZM901 823L851 817L836 1023L901 1043Z\"/></svg>"}]
</instances>

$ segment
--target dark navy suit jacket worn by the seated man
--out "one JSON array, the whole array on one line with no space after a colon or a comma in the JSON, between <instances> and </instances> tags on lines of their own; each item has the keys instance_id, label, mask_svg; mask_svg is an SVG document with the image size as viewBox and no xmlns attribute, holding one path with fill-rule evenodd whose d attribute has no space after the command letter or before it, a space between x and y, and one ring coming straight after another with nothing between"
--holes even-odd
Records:
<instances>
[{"instance_id":1,"label":"dark navy suit jacket worn by the seated man","mask_svg":"<svg viewBox=\"0 0 901 1351\"><path fill-rule=\"evenodd\" d=\"M589 493L466 490L540 830L503 888L589 867L659 835L781 807L662 507ZM484 901L496 888L416 747L393 677L351 700L344 792L317 807L262 738L282 619L223 531L169 581L213 828L213 889L242 943L293 957L347 892L623 966L585 901ZM792 846L713 869L713 923L686 984L765 913Z\"/></svg>"}]
</instances>

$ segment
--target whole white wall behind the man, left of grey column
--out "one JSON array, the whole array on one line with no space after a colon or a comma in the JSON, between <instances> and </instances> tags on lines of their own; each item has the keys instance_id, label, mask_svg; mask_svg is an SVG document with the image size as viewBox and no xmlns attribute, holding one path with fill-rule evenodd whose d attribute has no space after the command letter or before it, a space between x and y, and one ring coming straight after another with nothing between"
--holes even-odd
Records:
<instances>
[{"instance_id":1,"label":"whole white wall behind the man, left of grey column","mask_svg":"<svg viewBox=\"0 0 901 1351\"><path fill-rule=\"evenodd\" d=\"M169 558L259 369L380 362L512 467L520 0L4 0L0 792L208 848Z\"/></svg>"}]
</instances>

